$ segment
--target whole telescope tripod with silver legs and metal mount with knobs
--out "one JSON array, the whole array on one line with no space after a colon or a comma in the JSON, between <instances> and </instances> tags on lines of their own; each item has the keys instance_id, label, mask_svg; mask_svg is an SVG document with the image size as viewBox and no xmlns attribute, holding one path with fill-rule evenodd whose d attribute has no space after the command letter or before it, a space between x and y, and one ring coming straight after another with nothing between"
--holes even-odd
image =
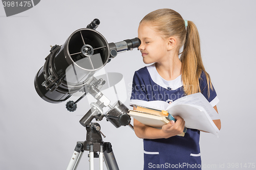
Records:
<instances>
[{"instance_id":1,"label":"whole telescope tripod with silver legs and metal mount with knobs","mask_svg":"<svg viewBox=\"0 0 256 170\"><path fill-rule=\"evenodd\" d=\"M97 121L100 121L103 117L106 117L116 128L129 125L133 129L133 126L130 124L131 117L127 114L129 109L120 101L117 101L114 106L110 105L110 100L99 90L105 83L102 79L97 80L91 77L89 80L89 83L84 85L84 94L76 102L69 101L66 104L66 108L69 111L75 111L77 108L76 104L86 96L86 91L97 100L96 103L90 104L91 109L79 121L83 127L86 127L86 141L77 142L66 170L75 170L77 168L84 151L90 152L90 170L94 169L94 157L99 158L100 170L103 170L103 157L108 170L119 170L111 143L102 140L101 135L103 134L100 131L100 125L92 123L92 120L95 118ZM111 110L103 114L102 108L106 106Z\"/></svg>"}]
</instances>

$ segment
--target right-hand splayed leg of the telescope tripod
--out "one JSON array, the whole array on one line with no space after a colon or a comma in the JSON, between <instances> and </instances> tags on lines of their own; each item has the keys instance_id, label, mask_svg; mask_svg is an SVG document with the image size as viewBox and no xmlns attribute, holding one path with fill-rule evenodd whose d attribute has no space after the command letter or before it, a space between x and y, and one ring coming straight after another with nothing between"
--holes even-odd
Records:
<instances>
[{"instance_id":1,"label":"right-hand splayed leg of the telescope tripod","mask_svg":"<svg viewBox=\"0 0 256 170\"><path fill-rule=\"evenodd\" d=\"M104 161L108 170L119 170L112 145L110 142L105 142L106 150L104 151Z\"/></svg>"}]
</instances>

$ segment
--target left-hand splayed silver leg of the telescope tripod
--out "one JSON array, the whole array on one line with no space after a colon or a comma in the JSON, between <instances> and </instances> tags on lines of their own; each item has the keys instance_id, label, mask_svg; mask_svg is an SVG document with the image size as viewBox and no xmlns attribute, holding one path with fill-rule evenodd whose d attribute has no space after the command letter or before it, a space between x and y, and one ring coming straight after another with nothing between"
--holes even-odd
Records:
<instances>
[{"instance_id":1,"label":"left-hand splayed silver leg of the telescope tripod","mask_svg":"<svg viewBox=\"0 0 256 170\"><path fill-rule=\"evenodd\" d=\"M83 144L77 143L66 170L75 170L83 154Z\"/></svg>"}]
</instances>

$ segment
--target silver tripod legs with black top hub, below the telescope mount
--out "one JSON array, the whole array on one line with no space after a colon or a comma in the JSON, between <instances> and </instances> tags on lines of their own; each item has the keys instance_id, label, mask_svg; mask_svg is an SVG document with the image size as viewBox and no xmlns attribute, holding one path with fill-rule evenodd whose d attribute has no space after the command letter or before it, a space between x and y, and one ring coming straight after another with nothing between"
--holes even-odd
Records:
<instances>
[{"instance_id":1,"label":"silver tripod legs with black top hub, below the telescope mount","mask_svg":"<svg viewBox=\"0 0 256 170\"><path fill-rule=\"evenodd\" d=\"M86 141L78 141L66 170L75 170L82 157L83 151L90 152L90 170L94 169L94 157L99 158L100 170L103 169L104 162L108 170L119 170L110 142L104 142L100 133L100 125L91 123L86 127ZM99 152L99 154L98 154Z\"/></svg>"}]
</instances>

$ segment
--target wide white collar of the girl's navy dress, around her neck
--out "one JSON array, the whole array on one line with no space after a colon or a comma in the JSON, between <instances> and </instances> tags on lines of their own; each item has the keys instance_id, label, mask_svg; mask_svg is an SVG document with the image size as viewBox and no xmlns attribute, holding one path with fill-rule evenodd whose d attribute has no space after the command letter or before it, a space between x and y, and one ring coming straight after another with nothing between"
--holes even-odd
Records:
<instances>
[{"instance_id":1,"label":"wide white collar of the girl's navy dress, around her neck","mask_svg":"<svg viewBox=\"0 0 256 170\"><path fill-rule=\"evenodd\" d=\"M152 65L148 65L147 67L148 72L150 72L150 77L151 79L158 84L159 86L169 89L169 90L176 90L180 87L183 86L182 80L181 80L181 75L178 76L176 79L174 80L165 80L163 79L159 73L157 72L155 63Z\"/></svg>"}]
</instances>

